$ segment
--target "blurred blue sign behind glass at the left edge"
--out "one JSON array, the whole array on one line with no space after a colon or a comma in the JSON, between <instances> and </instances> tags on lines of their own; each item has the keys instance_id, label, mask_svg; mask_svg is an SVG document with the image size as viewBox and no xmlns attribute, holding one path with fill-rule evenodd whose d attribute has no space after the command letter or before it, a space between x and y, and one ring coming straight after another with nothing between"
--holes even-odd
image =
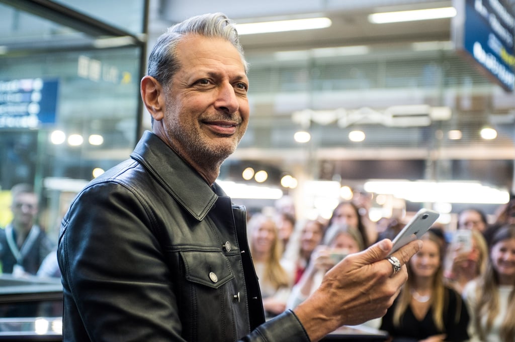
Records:
<instances>
[{"instance_id":1,"label":"blurred blue sign behind glass at the left edge","mask_svg":"<svg viewBox=\"0 0 515 342\"><path fill-rule=\"evenodd\" d=\"M56 122L58 80L0 81L0 129L36 129Z\"/></svg>"}]
</instances>

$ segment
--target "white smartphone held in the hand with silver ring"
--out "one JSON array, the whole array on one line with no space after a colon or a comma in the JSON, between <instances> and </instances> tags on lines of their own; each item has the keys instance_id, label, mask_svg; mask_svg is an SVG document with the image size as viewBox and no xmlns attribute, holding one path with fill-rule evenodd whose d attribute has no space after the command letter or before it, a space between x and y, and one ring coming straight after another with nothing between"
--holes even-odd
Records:
<instances>
[{"instance_id":1,"label":"white smartphone held in the hand with silver ring","mask_svg":"<svg viewBox=\"0 0 515 342\"><path fill-rule=\"evenodd\" d=\"M408 242L420 239L420 237L436 222L440 213L430 209L420 209L415 216L402 228L392 240L392 254Z\"/></svg>"}]
</instances>

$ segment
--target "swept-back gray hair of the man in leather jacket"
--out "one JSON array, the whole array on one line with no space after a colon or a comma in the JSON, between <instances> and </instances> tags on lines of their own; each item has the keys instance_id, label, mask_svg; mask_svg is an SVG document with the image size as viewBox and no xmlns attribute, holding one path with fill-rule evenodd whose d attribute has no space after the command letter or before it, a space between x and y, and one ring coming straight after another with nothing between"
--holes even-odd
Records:
<instances>
[{"instance_id":1,"label":"swept-back gray hair of the man in leather jacket","mask_svg":"<svg viewBox=\"0 0 515 342\"><path fill-rule=\"evenodd\" d=\"M150 52L148 75L155 78L163 87L169 85L180 67L176 48L181 39L188 34L221 38L230 42L242 58L245 73L248 72L248 63L245 60L243 47L239 43L238 32L233 22L223 13L202 14L169 27L165 33L161 34Z\"/></svg>"}]
</instances>

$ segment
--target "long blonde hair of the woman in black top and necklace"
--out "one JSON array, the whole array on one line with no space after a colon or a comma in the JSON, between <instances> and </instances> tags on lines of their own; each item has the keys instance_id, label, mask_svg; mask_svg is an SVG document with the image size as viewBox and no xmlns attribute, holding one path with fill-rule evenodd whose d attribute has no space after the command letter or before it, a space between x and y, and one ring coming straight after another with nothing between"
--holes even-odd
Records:
<instances>
[{"instance_id":1,"label":"long blonde hair of the woman in black top and necklace","mask_svg":"<svg viewBox=\"0 0 515 342\"><path fill-rule=\"evenodd\" d=\"M448 309L449 298L447 298L445 285L443 282L443 257L444 257L444 246L442 241L435 235L435 233L428 231L425 233L421 240L430 240L437 244L439 251L439 259L440 265L433 277L433 294L431 296L431 308L433 309L433 321L435 322L435 326L441 331L445 331L445 327L443 325L443 313ZM404 316L407 308L409 307L409 303L411 302L411 291L414 289L415 283L415 274L411 269L411 266L406 263L407 271L408 271L408 280L402 287L401 293L399 294L399 301L393 311L393 325L399 327L401 325L401 318ZM457 310L455 314L455 321L458 322L460 319L461 313L461 298L457 296Z\"/></svg>"}]
</instances>

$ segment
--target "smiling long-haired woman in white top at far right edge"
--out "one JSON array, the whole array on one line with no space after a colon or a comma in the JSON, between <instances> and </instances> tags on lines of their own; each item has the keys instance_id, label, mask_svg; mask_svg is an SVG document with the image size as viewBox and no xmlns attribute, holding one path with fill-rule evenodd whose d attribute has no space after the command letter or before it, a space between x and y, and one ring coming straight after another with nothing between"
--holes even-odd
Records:
<instances>
[{"instance_id":1,"label":"smiling long-haired woman in white top at far right edge","mask_svg":"<svg viewBox=\"0 0 515 342\"><path fill-rule=\"evenodd\" d=\"M515 341L515 225L492 235L486 271L467 284L471 341Z\"/></svg>"}]
</instances>

